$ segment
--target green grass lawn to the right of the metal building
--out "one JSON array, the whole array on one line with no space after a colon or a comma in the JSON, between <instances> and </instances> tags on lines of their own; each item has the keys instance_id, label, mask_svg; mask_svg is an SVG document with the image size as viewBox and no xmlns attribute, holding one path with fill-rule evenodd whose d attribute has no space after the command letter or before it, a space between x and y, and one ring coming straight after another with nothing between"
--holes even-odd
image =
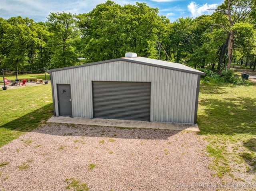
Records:
<instances>
[{"instance_id":1,"label":"green grass lawn to the right of the metal building","mask_svg":"<svg viewBox=\"0 0 256 191\"><path fill-rule=\"evenodd\" d=\"M256 172L256 87L200 85L199 135L219 177Z\"/></svg>"}]
</instances>

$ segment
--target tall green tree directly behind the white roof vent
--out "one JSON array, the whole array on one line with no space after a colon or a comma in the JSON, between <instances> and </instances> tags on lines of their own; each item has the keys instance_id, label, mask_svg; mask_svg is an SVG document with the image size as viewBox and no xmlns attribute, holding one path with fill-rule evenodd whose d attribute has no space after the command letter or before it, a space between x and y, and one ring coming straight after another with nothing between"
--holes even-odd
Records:
<instances>
[{"instance_id":1,"label":"tall green tree directly behind the white roof vent","mask_svg":"<svg viewBox=\"0 0 256 191\"><path fill-rule=\"evenodd\" d=\"M137 52L140 56L157 58L159 32L162 31L163 18L158 16L158 8L150 8L146 3L124 6L126 19L126 36L129 39L128 51Z\"/></svg>"}]
</instances>

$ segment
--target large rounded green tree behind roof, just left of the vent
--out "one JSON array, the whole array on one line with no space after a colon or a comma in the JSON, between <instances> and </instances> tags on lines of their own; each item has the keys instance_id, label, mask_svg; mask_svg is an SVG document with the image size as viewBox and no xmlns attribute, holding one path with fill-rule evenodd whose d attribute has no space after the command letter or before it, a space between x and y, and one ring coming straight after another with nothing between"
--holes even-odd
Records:
<instances>
[{"instance_id":1,"label":"large rounded green tree behind roof, just left of the vent","mask_svg":"<svg viewBox=\"0 0 256 191\"><path fill-rule=\"evenodd\" d=\"M124 55L126 37L121 6L107 1L91 12L78 15L78 26L82 32L81 52L91 61L102 61Z\"/></svg>"}]
</instances>

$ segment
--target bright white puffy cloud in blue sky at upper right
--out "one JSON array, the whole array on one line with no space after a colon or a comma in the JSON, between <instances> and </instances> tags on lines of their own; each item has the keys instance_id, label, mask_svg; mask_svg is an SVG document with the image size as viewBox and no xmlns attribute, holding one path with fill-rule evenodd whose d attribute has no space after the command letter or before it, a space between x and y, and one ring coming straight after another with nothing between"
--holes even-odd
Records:
<instances>
[{"instance_id":1,"label":"bright white puffy cloud in blue sky at upper right","mask_svg":"<svg viewBox=\"0 0 256 191\"><path fill-rule=\"evenodd\" d=\"M192 13L193 17L198 17L202 14L211 14L208 9L216 9L218 4L204 4L202 6L197 5L195 2L191 2L188 5L188 10Z\"/></svg>"}]
</instances>

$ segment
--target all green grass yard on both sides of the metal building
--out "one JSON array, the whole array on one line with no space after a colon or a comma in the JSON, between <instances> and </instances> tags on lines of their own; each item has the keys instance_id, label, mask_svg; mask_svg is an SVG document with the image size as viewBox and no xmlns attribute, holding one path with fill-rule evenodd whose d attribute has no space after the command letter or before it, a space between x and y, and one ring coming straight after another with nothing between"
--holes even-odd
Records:
<instances>
[{"instance_id":1,"label":"all green grass yard on both sides of the metal building","mask_svg":"<svg viewBox=\"0 0 256 191\"><path fill-rule=\"evenodd\" d=\"M39 78L38 75L31 75ZM8 77L12 79L12 77ZM29 78L22 76L20 78ZM14 78L15 79L15 78ZM52 115L48 85L0 89L0 147L40 127ZM200 85L198 126L218 177L246 181L256 173L256 87ZM242 173L243 176L238 175ZM253 179L252 179L253 180Z\"/></svg>"}]
</instances>

